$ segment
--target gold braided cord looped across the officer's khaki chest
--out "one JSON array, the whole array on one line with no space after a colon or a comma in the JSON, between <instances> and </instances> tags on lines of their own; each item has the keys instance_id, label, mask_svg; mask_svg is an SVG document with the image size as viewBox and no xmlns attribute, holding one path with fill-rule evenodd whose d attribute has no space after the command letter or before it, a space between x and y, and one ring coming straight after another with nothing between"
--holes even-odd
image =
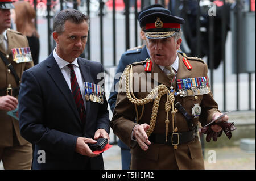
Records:
<instances>
[{"instance_id":1,"label":"gold braided cord looped across the officer's khaki chest","mask_svg":"<svg viewBox=\"0 0 256 181\"><path fill-rule=\"evenodd\" d=\"M125 70L123 75L125 75L125 86L126 86L127 98L135 106L137 123L143 115L144 105L149 103L149 102L152 102L154 100L153 98L157 94L157 97L154 100L154 104L153 104L153 108L152 108L151 119L150 119L150 128L146 132L148 137L154 131L154 128L155 128L155 123L156 123L156 117L158 115L158 107L159 107L160 98L165 94L168 95L167 96L167 101L166 101L166 104L165 104L165 111L166 111L166 121L165 121L165 123L166 123L166 142L167 142L168 124L170 123L170 121L168 120L168 112L172 108L171 113L172 113L172 129L173 129L173 132L174 132L174 116L175 116L175 113L177 112L176 109L174 108L174 100L175 100L174 92L170 92L169 89L166 87L166 85L161 84L159 86L156 86L150 92L150 94L148 94L146 96L146 98L138 99L133 94L133 65L129 65L127 67L127 69ZM142 113L141 113L140 117L138 117L137 105L142 106Z\"/></svg>"}]
</instances>

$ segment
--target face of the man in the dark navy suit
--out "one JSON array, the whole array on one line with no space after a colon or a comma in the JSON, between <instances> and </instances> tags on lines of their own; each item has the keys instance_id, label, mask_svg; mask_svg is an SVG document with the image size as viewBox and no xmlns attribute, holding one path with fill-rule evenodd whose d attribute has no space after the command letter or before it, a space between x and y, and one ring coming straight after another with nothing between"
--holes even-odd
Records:
<instances>
[{"instance_id":1,"label":"face of the man in the dark navy suit","mask_svg":"<svg viewBox=\"0 0 256 181\"><path fill-rule=\"evenodd\" d=\"M53 32L53 39L57 43L56 53L65 61L73 62L85 49L88 30L86 21L75 24L67 20L64 25L64 32Z\"/></svg>"}]
</instances>

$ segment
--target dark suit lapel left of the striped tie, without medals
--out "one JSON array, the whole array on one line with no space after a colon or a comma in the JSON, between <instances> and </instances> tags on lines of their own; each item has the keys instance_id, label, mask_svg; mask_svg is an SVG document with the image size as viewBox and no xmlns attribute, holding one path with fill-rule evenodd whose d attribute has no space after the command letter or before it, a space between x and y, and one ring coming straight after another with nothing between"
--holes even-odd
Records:
<instances>
[{"instance_id":1,"label":"dark suit lapel left of the striped tie, without medals","mask_svg":"<svg viewBox=\"0 0 256 181\"><path fill-rule=\"evenodd\" d=\"M65 81L65 78L63 77L63 74L61 73L59 65L57 64L52 53L49 56L47 61L48 61L47 66L49 67L49 69L47 71L48 71L50 77L52 78L53 82L55 82L56 87L58 87L60 92L64 95L64 98L67 100L72 111L75 113L77 120L81 124L79 113L76 108L75 100L71 94L71 91L68 87L67 82Z\"/></svg>"}]
</instances>

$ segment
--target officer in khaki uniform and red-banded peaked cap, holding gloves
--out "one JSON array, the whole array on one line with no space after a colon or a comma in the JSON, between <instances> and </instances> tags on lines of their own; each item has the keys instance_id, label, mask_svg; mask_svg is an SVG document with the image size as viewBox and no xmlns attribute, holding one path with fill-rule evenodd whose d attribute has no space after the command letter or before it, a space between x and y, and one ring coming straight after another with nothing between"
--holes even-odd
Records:
<instances>
[{"instance_id":1,"label":"officer in khaki uniform and red-banded peaked cap, holding gloves","mask_svg":"<svg viewBox=\"0 0 256 181\"><path fill-rule=\"evenodd\" d=\"M204 169L197 123L221 115L207 65L177 53L184 19L161 7L142 13L151 57L124 71L111 127L131 148L131 169Z\"/></svg>"}]
</instances>

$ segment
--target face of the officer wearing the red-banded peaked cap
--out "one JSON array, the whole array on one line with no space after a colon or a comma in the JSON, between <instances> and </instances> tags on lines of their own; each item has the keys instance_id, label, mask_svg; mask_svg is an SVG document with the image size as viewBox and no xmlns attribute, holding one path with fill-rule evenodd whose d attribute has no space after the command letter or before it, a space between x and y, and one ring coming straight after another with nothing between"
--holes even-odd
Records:
<instances>
[{"instance_id":1,"label":"face of the officer wearing the red-banded peaked cap","mask_svg":"<svg viewBox=\"0 0 256 181\"><path fill-rule=\"evenodd\" d=\"M181 39L176 41L174 37L147 39L152 61L162 66L169 66L174 63L177 55L176 51L180 48L180 44Z\"/></svg>"}]
</instances>

